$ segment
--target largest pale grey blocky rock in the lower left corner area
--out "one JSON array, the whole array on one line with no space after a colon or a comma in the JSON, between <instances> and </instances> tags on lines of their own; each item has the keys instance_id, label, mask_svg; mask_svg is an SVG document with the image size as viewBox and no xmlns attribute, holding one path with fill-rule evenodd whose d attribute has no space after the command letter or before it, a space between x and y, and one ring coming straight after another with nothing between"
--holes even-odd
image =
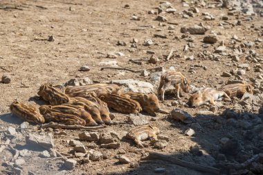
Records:
<instances>
[{"instance_id":1,"label":"largest pale grey blocky rock in the lower left corner area","mask_svg":"<svg viewBox=\"0 0 263 175\"><path fill-rule=\"evenodd\" d=\"M30 133L26 136L26 144L44 147L45 149L51 149L54 147L53 136L51 134L42 136Z\"/></svg>"}]
</instances>

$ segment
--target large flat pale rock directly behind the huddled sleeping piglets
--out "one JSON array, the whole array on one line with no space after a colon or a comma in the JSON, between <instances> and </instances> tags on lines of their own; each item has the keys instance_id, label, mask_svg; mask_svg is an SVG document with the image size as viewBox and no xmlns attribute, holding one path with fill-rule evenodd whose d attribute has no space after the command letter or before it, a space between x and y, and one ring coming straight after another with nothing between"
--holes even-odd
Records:
<instances>
[{"instance_id":1,"label":"large flat pale rock directly behind the huddled sleeping piglets","mask_svg":"<svg viewBox=\"0 0 263 175\"><path fill-rule=\"evenodd\" d=\"M133 79L111 80L109 83L118 84L124 92L132 91L134 93L152 93L154 86L149 82L142 82Z\"/></svg>"}]
</instances>

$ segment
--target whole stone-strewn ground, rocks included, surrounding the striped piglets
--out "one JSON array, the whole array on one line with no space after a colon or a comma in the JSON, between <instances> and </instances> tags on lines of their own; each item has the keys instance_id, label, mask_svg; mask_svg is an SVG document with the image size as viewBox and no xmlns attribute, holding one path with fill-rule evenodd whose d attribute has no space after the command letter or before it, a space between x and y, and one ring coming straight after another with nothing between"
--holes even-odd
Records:
<instances>
[{"instance_id":1,"label":"whole stone-strewn ground, rocks included, surrounding the striped piglets","mask_svg":"<svg viewBox=\"0 0 263 175\"><path fill-rule=\"evenodd\" d=\"M141 160L150 152L221 174L263 174L262 6L256 0L1 1L0 174L215 174ZM112 111L116 125L95 131L44 129L9 111L16 99L44 104L37 96L44 83L115 82L156 93L169 69L188 77L192 91L246 81L254 95L192 109L185 104L190 93L181 100L167 94L161 106L170 115ZM175 120L179 114L188 122ZM161 133L140 149L125 135L146 123Z\"/></svg>"}]
</instances>

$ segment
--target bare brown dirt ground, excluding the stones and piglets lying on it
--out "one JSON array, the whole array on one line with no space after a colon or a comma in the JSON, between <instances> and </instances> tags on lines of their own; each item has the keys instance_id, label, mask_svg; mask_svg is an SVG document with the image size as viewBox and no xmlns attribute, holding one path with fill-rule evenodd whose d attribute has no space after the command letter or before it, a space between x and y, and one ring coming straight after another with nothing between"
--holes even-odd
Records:
<instances>
[{"instance_id":1,"label":"bare brown dirt ground, excluding the stones and piglets lying on it","mask_svg":"<svg viewBox=\"0 0 263 175\"><path fill-rule=\"evenodd\" d=\"M116 61L119 67L131 68L134 70L154 68L163 66L168 70L170 66L174 66L176 71L181 71L185 77L188 77L191 84L197 88L203 86L217 87L225 84L229 79L235 77L242 78L246 82L255 84L262 72L256 72L256 66L262 66L263 46L262 42L255 42L257 38L263 39L262 28L263 19L259 15L229 15L228 22L235 23L242 21L241 26L223 25L221 17L228 14L227 8L208 8L207 6L190 6L198 7L200 12L194 17L185 19L182 17L183 10L190 7L183 7L183 3L179 1L170 1L172 6L176 8L176 12L162 13L167 21L156 21L155 14L148 14L149 10L156 10L161 1L0 1L0 76L10 75L10 84L0 83L0 131L1 142L6 140L3 131L8 127L19 127L22 120L16 116L12 116L9 110L10 104L14 100L19 100L26 104L42 104L43 100L37 98L39 86L44 83L62 84L75 77L89 77L94 82L105 82L109 80L125 80L134 79L145 82L152 82L151 75L144 76L140 73L132 73L130 71L119 71L107 69L100 71L101 62ZM213 4L212 2L210 4ZM129 5L126 6L125 5ZM16 7L16 8L15 8ZM208 12L215 17L215 20L203 20L201 13ZM132 20L132 16L136 15L140 20ZM249 19L248 19L249 18ZM170 24L168 24L170 23ZM194 24L203 23L204 26L210 26L206 35L216 33L218 42L215 44L203 44L203 37L206 35L190 35L194 42L194 48L183 51L185 45L189 42L182 38L182 26L193 26ZM174 30L168 30L169 26L174 26ZM165 35L167 38L154 37L154 34ZM53 35L55 41L48 42L49 36ZM236 44L231 44L233 35L237 35L240 40ZM131 48L133 39L138 39L137 48ZM143 46L145 39L152 39L151 46ZM212 59L215 48L224 40L226 53L229 55L214 55L219 59ZM123 41L126 46L118 46L118 41ZM243 42L254 42L251 48L244 47L244 52L239 55L238 62L232 60L235 45L239 46ZM165 61L165 57L174 48L174 56ZM160 62L149 64L144 62L141 65L129 62L129 59L148 59L151 54L147 50L154 51L155 55L160 58ZM205 51L204 51L205 50ZM257 62L253 59L246 59L250 55L250 50L255 50ZM108 53L121 52L124 56L116 58L107 57ZM208 53L200 57L201 53ZM187 58L193 56L193 60ZM246 74L233 75L232 77L221 76L224 71L230 72L236 69L239 64L249 64L246 68ZM88 65L90 71L79 71L81 66ZM262 81L262 80L260 80ZM258 85L258 84L257 84ZM253 116L262 119L262 115L258 112L260 105L262 106L262 83L254 86L257 90L258 97L261 102L251 104L251 109L243 109L246 113L250 113L248 119L253 120ZM156 86L154 86L156 93ZM244 141L244 132L246 129L240 126L239 120L227 120L221 113L225 109L235 107L235 102L219 102L219 109L213 113L213 116L197 116L200 111L209 111L210 107L203 106L198 109L185 107L183 102L187 102L190 93L183 93L184 97L179 100L178 104L172 106L173 97L167 97L165 102L161 103L163 109L172 111L179 108L187 111L195 117L201 129L196 131L194 136L185 136L184 131L190 125L184 125L170 118L170 115L158 114L150 123L156 125L161 130L161 134L169 138L168 145L163 149L154 147L137 148L133 142L125 139L125 133L129 131L133 125L119 124L108 126L103 131L116 131L120 136L124 137L120 140L119 149L103 149L95 148L107 155L107 158L100 161L91 161L90 163L78 163L76 167L69 171L64 169L64 162L59 159L45 160L38 156L39 151L32 150L31 156L24 157L26 163L22 165L23 173L28 174L155 174L156 168L163 167L165 170L159 174L204 174L185 167L166 163L161 160L140 161L141 156L155 151L161 154L172 155L192 163L202 165L216 165L221 163L218 158L218 151L221 138L237 138L246 145L248 141ZM260 96L261 95L261 96ZM243 111L244 111L243 110ZM114 112L114 111L113 111ZM116 113L115 121L126 122L126 114ZM261 115L261 116L260 116ZM243 120L242 120L243 121ZM257 123L262 126L262 121ZM254 124L252 128L255 127ZM47 133L47 131L37 129L37 126L30 125L30 129L18 131L18 135L11 142L15 143L16 149L28 149L25 147L24 136L30 132ZM251 128L249 128L251 129ZM249 130L247 129L247 130ZM55 135L55 149L69 153L71 147L66 140L78 139L78 133L82 131L67 130L64 131L65 136ZM54 131L55 132L55 131ZM255 140L254 140L255 141ZM249 142L253 145L254 141ZM149 141L145 141L148 142ZM202 156L194 156L190 153L190 147L198 146L202 151ZM241 144L242 145L242 144ZM258 145L253 147L262 147L262 139L258 141ZM0 153L0 164L4 162L12 162L12 153L5 149ZM88 149L89 150L89 149ZM248 149L244 149L246 151ZM253 149L252 149L253 150ZM121 164L116 158L118 155L125 154L130 160L129 164ZM257 154L262 153L262 149ZM226 158L223 162L242 163L253 154L242 160L234 160ZM74 158L73 158L74 159ZM80 158L75 158L80 160ZM0 165L0 174L15 174L12 170L5 171L6 167ZM208 173L209 174L209 173ZM258 173L260 174L260 173ZM262 173L263 174L263 173Z\"/></svg>"}]
</instances>

